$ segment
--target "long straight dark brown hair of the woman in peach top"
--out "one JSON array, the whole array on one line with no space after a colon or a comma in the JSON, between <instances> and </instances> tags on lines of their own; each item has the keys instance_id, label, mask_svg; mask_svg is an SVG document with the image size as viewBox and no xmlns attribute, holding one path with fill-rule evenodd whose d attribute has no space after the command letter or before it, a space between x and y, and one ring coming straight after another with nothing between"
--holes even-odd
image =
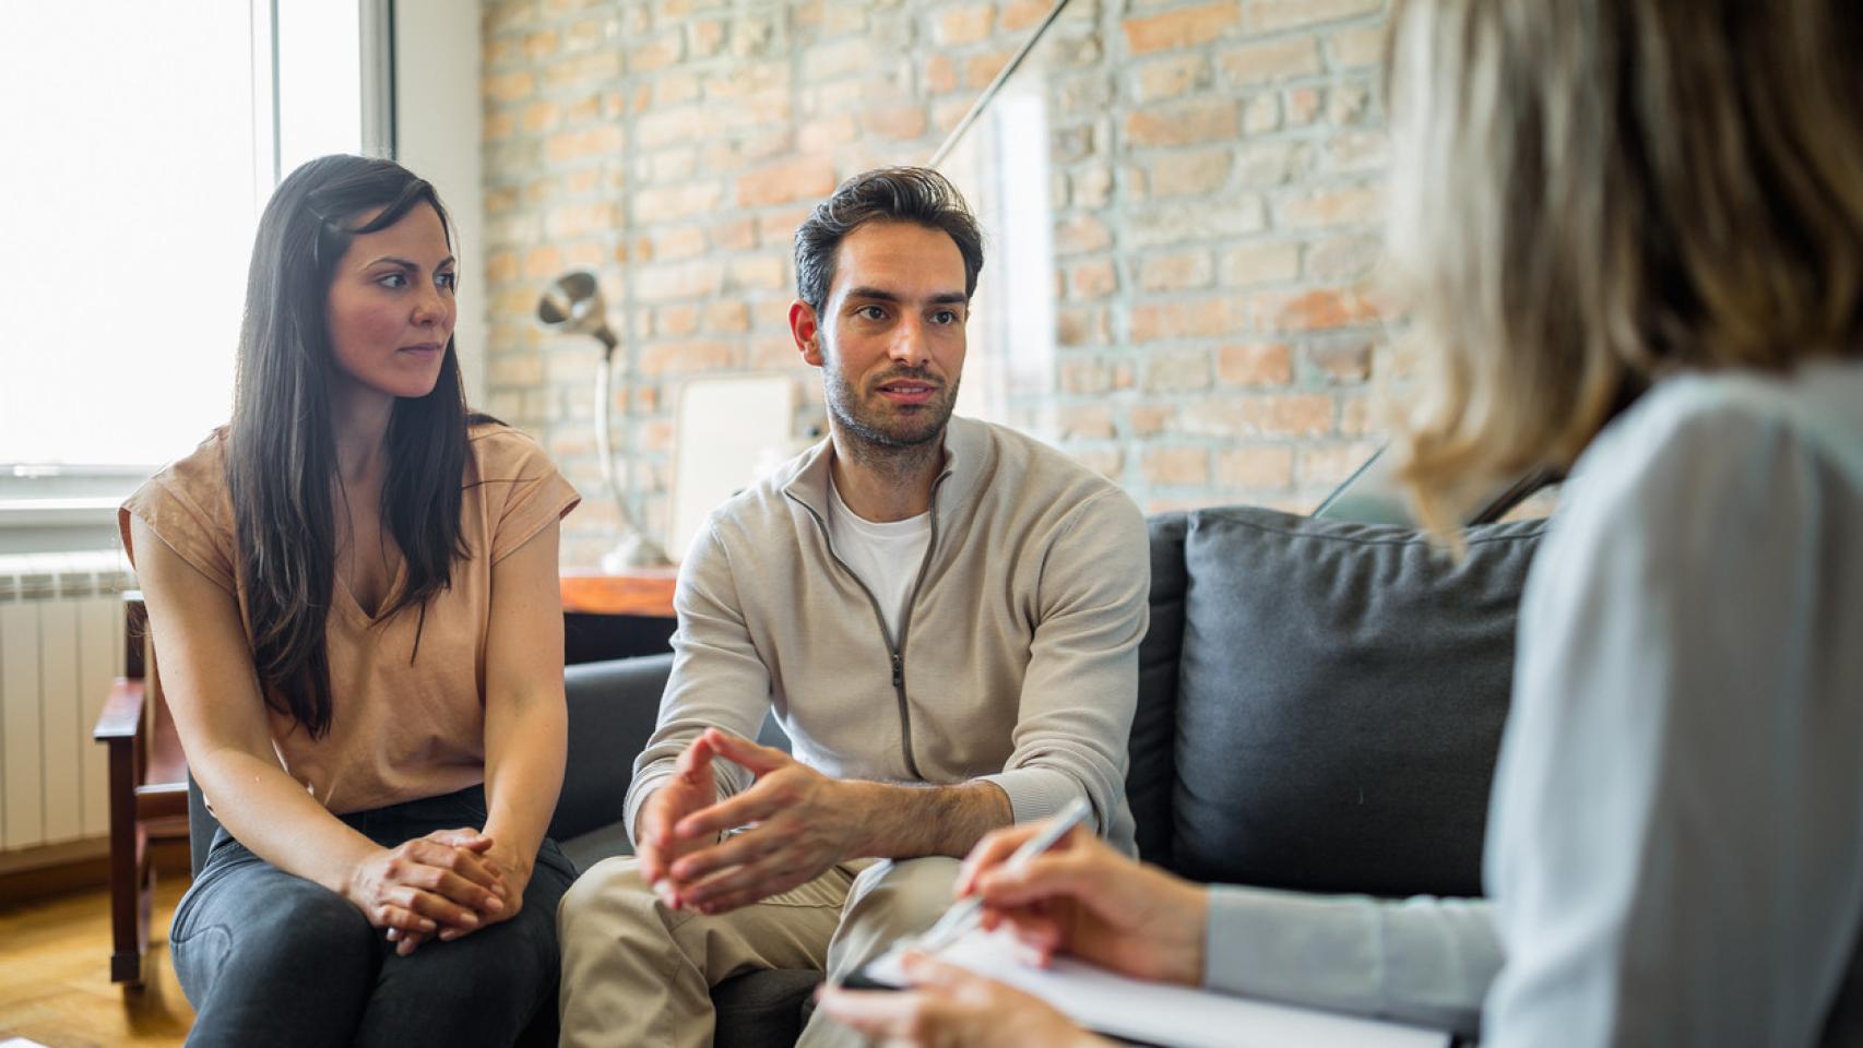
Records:
<instances>
[{"instance_id":1,"label":"long straight dark brown hair of the woman in peach top","mask_svg":"<svg viewBox=\"0 0 1863 1048\"><path fill-rule=\"evenodd\" d=\"M423 205L440 214L451 242L440 195L412 171L389 160L322 156L279 182L252 249L227 486L253 666L266 704L311 735L332 720L324 627L335 584L330 385L337 365L326 302L350 240ZM466 555L466 387L447 339L432 393L397 398L388 424L382 516L406 558L406 584L384 618L425 611L427 598L451 583L453 558Z\"/></svg>"}]
</instances>

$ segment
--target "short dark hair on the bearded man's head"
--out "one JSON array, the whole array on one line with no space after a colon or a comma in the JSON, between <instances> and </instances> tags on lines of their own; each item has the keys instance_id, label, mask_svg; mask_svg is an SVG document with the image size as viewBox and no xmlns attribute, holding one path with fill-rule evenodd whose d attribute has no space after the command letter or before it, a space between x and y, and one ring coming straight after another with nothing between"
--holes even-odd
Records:
<instances>
[{"instance_id":1,"label":"short dark hair on the bearded man's head","mask_svg":"<svg viewBox=\"0 0 1863 1048\"><path fill-rule=\"evenodd\" d=\"M822 313L835 283L835 253L850 233L868 222L911 222L941 229L963 255L963 296L976 294L984 268L984 231L945 175L930 168L879 168L863 171L818 203L796 227L796 292Z\"/></svg>"}]
</instances>

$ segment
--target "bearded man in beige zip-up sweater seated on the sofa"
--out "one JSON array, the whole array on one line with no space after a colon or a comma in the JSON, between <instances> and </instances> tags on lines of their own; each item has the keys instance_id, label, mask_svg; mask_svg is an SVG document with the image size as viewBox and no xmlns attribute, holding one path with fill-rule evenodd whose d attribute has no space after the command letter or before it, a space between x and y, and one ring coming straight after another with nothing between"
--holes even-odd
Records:
<instances>
[{"instance_id":1,"label":"bearded man in beige zip-up sweater seated on the sofa","mask_svg":"<svg viewBox=\"0 0 1863 1048\"><path fill-rule=\"evenodd\" d=\"M859 968L937 920L984 834L1075 797L1131 853L1144 517L952 417L982 264L928 169L857 175L796 231L790 331L831 432L719 506L680 568L637 856L559 910L564 1044L710 1044L712 985ZM771 709L794 758L747 741ZM801 1042L850 1037L818 1018Z\"/></svg>"}]
</instances>

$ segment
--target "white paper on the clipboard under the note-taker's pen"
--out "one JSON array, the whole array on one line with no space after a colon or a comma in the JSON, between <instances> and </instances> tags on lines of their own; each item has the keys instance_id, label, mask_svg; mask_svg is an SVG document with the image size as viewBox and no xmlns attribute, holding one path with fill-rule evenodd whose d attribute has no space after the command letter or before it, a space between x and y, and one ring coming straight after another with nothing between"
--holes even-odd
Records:
<instances>
[{"instance_id":1,"label":"white paper on the clipboard under the note-taker's pen","mask_svg":"<svg viewBox=\"0 0 1863 1048\"><path fill-rule=\"evenodd\" d=\"M1056 957L1053 968L1036 968L1023 961L1008 931L972 931L941 949L939 959L1010 983L1101 1033L1164 1048L1444 1048L1449 1042L1448 1033L1435 1029L1148 983L1066 957ZM866 975L894 987L907 983L896 951L872 962Z\"/></svg>"}]
</instances>

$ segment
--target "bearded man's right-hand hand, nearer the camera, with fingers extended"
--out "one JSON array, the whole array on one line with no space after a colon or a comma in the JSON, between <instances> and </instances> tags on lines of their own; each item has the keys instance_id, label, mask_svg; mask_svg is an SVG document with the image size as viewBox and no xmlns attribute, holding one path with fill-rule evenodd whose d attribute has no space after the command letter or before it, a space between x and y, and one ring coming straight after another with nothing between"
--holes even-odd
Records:
<instances>
[{"instance_id":1,"label":"bearded man's right-hand hand, nearer the camera, with fingers extended","mask_svg":"<svg viewBox=\"0 0 1863 1048\"><path fill-rule=\"evenodd\" d=\"M855 853L861 819L853 802L857 784L827 778L782 750L717 728L699 735L691 748L699 746L743 765L756 784L721 804L687 810L673 826L680 851L669 873L680 905L702 914L734 910L814 880ZM702 847L736 826L751 828Z\"/></svg>"}]
</instances>

